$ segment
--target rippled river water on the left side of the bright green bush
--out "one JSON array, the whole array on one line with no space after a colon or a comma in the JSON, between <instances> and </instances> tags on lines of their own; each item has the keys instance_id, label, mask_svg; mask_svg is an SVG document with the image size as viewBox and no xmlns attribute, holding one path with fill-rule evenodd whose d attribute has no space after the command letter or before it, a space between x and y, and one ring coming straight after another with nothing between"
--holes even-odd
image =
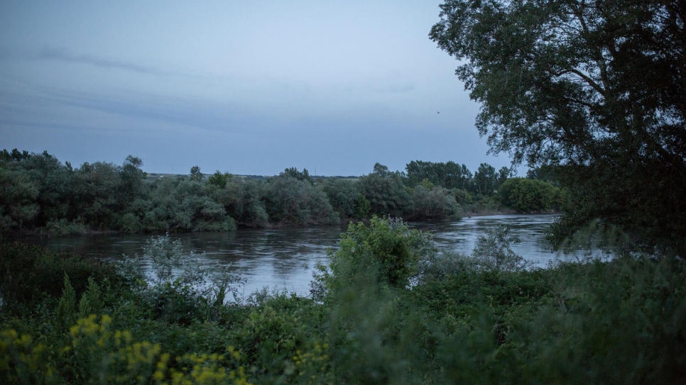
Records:
<instances>
[{"instance_id":1,"label":"rippled river water on the left side of the bright green bush","mask_svg":"<svg viewBox=\"0 0 686 385\"><path fill-rule=\"evenodd\" d=\"M246 284L241 295L265 286L300 295L309 294L312 268L327 263L327 249L335 247L344 228L241 229L231 233L172 234L185 250L192 250L201 263L212 267L230 266ZM122 255L138 256L144 268L149 261L141 257L149 235L90 235L75 238L34 240L57 252L119 260Z\"/></svg>"}]
</instances>

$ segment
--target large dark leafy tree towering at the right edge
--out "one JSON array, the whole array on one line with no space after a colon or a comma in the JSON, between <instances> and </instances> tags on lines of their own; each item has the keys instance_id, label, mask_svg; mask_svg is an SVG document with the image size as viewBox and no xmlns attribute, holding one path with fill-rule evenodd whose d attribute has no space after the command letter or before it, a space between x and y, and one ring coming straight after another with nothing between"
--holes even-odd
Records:
<instances>
[{"instance_id":1,"label":"large dark leafy tree towering at the right edge","mask_svg":"<svg viewBox=\"0 0 686 385\"><path fill-rule=\"evenodd\" d=\"M554 166L559 228L590 218L686 251L686 1L447 0L430 38L460 60L491 152ZM573 208L573 209L572 209Z\"/></svg>"}]
</instances>

